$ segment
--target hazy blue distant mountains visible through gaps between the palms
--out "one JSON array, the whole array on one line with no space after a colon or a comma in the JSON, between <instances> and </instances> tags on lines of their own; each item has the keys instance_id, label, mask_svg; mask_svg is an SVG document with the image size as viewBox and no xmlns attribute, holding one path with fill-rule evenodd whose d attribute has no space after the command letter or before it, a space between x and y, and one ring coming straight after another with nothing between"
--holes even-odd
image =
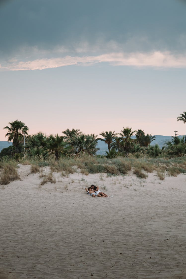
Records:
<instances>
[{"instance_id":1,"label":"hazy blue distant mountains visible through gaps between the palms","mask_svg":"<svg viewBox=\"0 0 186 279\"><path fill-rule=\"evenodd\" d=\"M171 136L155 135L155 137L156 139L152 141L151 145L155 145L157 143L160 146L160 148L162 148L165 141L172 139ZM182 138L183 136L178 136L178 137ZM132 136L131 138L136 138L136 136ZM3 148L8 147L9 145L12 145L12 142L9 143L8 141L0 141L0 152ZM101 140L98 140L97 148L100 148L100 150L96 152L97 155L105 155L106 154L105 151L108 151L107 144Z\"/></svg>"}]
</instances>

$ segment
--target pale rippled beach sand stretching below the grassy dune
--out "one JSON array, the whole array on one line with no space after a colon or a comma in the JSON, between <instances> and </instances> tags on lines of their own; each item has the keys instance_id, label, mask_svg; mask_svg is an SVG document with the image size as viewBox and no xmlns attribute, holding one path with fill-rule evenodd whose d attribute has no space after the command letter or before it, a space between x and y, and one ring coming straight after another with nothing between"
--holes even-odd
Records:
<instances>
[{"instance_id":1,"label":"pale rippled beach sand stretching below the grassy dune","mask_svg":"<svg viewBox=\"0 0 186 279\"><path fill-rule=\"evenodd\" d=\"M41 186L19 167L0 186L0 279L186 278L186 175L54 173Z\"/></svg>"}]
</instances>

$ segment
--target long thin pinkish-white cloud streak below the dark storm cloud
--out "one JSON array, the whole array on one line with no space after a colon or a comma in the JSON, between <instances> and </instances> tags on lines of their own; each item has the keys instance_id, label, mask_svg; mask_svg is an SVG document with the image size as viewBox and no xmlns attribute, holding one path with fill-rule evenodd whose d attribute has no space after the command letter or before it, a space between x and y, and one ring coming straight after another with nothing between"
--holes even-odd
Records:
<instances>
[{"instance_id":1,"label":"long thin pinkish-white cloud streak below the dark storm cloud","mask_svg":"<svg viewBox=\"0 0 186 279\"><path fill-rule=\"evenodd\" d=\"M112 52L97 56L65 56L50 59L35 59L32 61L9 60L6 65L0 65L4 71L43 70L70 65L92 65L109 63L112 66L134 66L139 68L186 68L186 55L174 55L170 52L154 51L149 53Z\"/></svg>"}]
</instances>

